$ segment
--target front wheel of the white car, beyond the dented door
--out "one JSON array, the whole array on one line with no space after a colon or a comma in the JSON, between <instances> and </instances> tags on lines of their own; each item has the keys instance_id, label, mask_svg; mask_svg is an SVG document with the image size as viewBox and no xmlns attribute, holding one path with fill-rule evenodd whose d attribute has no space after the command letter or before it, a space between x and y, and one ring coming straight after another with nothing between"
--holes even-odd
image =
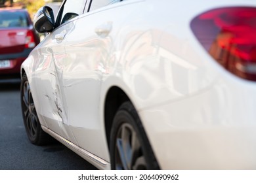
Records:
<instances>
[{"instance_id":1,"label":"front wheel of the white car, beyond the dented door","mask_svg":"<svg viewBox=\"0 0 256 183\"><path fill-rule=\"evenodd\" d=\"M52 140L52 137L45 133L45 131L43 131L43 129L41 128L41 124L35 110L35 105L33 103L30 84L25 74L22 76L20 86L20 99L22 107L22 117L28 139L30 140L30 142L32 142L32 144L35 145L49 144L49 142L51 142Z\"/></svg>"}]
</instances>

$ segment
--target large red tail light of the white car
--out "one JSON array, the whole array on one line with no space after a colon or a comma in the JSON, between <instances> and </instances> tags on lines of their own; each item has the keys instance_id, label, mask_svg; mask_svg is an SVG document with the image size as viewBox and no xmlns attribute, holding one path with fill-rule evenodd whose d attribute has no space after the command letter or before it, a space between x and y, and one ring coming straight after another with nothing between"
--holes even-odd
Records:
<instances>
[{"instance_id":1,"label":"large red tail light of the white car","mask_svg":"<svg viewBox=\"0 0 256 183\"><path fill-rule=\"evenodd\" d=\"M256 81L256 8L209 10L190 25L203 48L226 70Z\"/></svg>"}]
</instances>

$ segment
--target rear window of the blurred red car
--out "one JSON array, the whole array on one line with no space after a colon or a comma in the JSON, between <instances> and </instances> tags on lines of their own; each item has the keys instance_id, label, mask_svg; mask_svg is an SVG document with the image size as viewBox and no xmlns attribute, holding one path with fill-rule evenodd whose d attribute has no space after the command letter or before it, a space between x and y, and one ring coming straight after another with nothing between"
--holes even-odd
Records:
<instances>
[{"instance_id":1,"label":"rear window of the blurred red car","mask_svg":"<svg viewBox=\"0 0 256 183\"><path fill-rule=\"evenodd\" d=\"M28 18L24 12L0 12L0 28L28 27Z\"/></svg>"}]
</instances>

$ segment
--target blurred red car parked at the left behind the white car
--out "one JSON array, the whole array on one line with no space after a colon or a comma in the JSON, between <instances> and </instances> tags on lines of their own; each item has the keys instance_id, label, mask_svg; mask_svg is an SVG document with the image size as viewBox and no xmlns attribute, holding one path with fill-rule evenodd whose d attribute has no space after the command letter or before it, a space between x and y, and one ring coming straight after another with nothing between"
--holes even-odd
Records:
<instances>
[{"instance_id":1,"label":"blurred red car parked at the left behind the white car","mask_svg":"<svg viewBox=\"0 0 256 183\"><path fill-rule=\"evenodd\" d=\"M26 9L0 8L0 78L20 76L20 65L38 43Z\"/></svg>"}]
</instances>

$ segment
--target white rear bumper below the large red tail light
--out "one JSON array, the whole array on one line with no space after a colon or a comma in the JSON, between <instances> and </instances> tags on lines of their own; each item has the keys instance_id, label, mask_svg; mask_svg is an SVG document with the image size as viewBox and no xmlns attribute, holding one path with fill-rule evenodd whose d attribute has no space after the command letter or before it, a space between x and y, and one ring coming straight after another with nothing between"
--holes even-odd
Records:
<instances>
[{"instance_id":1,"label":"white rear bumper below the large red tail light","mask_svg":"<svg viewBox=\"0 0 256 183\"><path fill-rule=\"evenodd\" d=\"M256 169L255 93L254 82L221 78L202 92L140 110L161 169Z\"/></svg>"}]
</instances>

